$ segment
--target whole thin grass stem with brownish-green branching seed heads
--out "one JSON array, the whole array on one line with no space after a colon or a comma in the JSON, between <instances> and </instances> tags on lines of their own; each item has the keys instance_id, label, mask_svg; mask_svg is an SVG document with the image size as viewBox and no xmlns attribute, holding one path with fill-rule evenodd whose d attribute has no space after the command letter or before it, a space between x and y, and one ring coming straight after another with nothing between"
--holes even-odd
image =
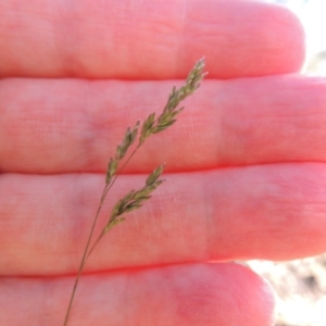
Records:
<instances>
[{"instance_id":1,"label":"whole thin grass stem with brownish-green branching seed heads","mask_svg":"<svg viewBox=\"0 0 326 326\"><path fill-rule=\"evenodd\" d=\"M100 199L99 206L97 209L97 213L92 221L92 226L90 228L90 233L87 239L87 243L84 249L83 258L80 261L80 265L78 268L78 273L74 283L73 291L71 294L70 303L66 310L65 319L63 326L66 326L68 323L68 317L71 314L73 301L75 298L76 289L78 286L79 278L82 276L82 272L86 264L87 259L96 248L97 243L101 240L101 238L113 227L121 224L126 220L124 216L126 213L135 211L143 205L143 203L151 198L151 193L160 187L160 185L164 181L164 179L160 179L164 165L161 164L158 166L146 179L145 186L138 190L128 191L123 198L121 198L115 205L113 206L109 220L100 235L93 239L95 227L101 212L102 205L106 198L109 190L114 185L120 173L126 166L126 164L130 161L134 154L138 151L138 149L142 146L142 143L152 135L159 134L170 126L172 126L177 121L177 115L184 110L184 106L179 108L178 105L183 100L185 100L188 96L192 95L200 86L202 79L205 76L203 72L204 68L204 59L199 60L189 75L186 78L186 83L180 88L173 87L167 102L164 106L163 112L155 117L155 113L151 113L142 123L140 136L138 137L138 145L136 149L129 154L126 159L123 166L120 167L121 161L126 156L129 148L136 141L138 136L138 130L140 127L140 122L137 122L136 125L131 128L128 127L125 131L123 141L116 147L115 155L110 159L108 164L108 170L105 173L105 185L102 191L102 196ZM92 243L91 243L92 242Z\"/></svg>"}]
</instances>

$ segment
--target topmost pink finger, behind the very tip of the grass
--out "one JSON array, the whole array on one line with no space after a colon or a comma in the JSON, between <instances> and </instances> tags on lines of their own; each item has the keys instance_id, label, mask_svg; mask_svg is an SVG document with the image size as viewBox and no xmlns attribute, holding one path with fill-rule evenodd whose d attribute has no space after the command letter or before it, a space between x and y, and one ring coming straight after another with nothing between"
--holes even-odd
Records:
<instances>
[{"instance_id":1,"label":"topmost pink finger, behind the very tip of the grass","mask_svg":"<svg viewBox=\"0 0 326 326\"><path fill-rule=\"evenodd\" d=\"M205 55L211 77L229 78L304 58L298 18L253 1L5 0L0 12L2 76L177 78Z\"/></svg>"}]
</instances>

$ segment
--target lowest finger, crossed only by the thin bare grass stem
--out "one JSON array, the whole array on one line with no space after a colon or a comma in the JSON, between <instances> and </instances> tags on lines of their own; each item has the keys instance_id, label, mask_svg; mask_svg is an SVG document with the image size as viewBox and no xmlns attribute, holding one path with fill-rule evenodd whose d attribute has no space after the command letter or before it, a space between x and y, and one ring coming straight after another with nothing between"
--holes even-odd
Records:
<instances>
[{"instance_id":1,"label":"lowest finger, crossed only by the thin bare grass stem","mask_svg":"<svg viewBox=\"0 0 326 326\"><path fill-rule=\"evenodd\" d=\"M1 325L61 325L72 286L2 278ZM269 286L243 266L178 265L83 276L68 325L272 326L273 309Z\"/></svg>"}]
</instances>

